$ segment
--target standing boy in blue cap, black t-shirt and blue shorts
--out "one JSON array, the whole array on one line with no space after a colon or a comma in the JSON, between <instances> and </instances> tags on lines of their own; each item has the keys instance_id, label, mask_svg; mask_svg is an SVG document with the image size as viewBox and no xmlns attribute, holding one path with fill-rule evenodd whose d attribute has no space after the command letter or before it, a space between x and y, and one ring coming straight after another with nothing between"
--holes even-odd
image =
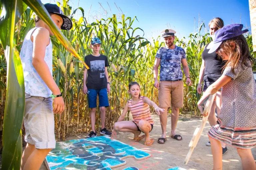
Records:
<instances>
[{"instance_id":1,"label":"standing boy in blue cap, black t-shirt and blue shorts","mask_svg":"<svg viewBox=\"0 0 256 170\"><path fill-rule=\"evenodd\" d=\"M95 130L95 112L97 107L97 96L99 96L101 130L100 134L111 136L112 133L105 128L106 107L109 106L108 92L110 92L110 83L108 79L107 67L109 66L107 56L100 54L100 39L91 40L92 54L85 56L85 63L90 69L84 69L83 93L88 96L90 108L92 131L86 138L97 136ZM88 74L88 76L87 76Z\"/></svg>"}]
</instances>

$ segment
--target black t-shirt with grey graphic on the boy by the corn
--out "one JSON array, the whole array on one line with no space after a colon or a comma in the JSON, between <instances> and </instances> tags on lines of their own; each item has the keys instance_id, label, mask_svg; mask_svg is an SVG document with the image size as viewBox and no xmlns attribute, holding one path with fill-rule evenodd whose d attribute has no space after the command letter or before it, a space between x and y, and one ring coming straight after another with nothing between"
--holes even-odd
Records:
<instances>
[{"instance_id":1,"label":"black t-shirt with grey graphic on the boy by the corn","mask_svg":"<svg viewBox=\"0 0 256 170\"><path fill-rule=\"evenodd\" d=\"M100 54L100 56L96 57L90 54L85 56L84 61L90 68L87 72L86 87L88 89L107 88L107 79L105 76L105 67L109 66L107 56Z\"/></svg>"}]
</instances>

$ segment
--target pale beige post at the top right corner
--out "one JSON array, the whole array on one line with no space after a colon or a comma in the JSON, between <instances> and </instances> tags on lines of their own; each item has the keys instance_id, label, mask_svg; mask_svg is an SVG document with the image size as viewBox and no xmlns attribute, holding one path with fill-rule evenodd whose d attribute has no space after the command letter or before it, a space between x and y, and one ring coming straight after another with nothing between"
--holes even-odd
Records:
<instances>
[{"instance_id":1,"label":"pale beige post at the top right corner","mask_svg":"<svg viewBox=\"0 0 256 170\"><path fill-rule=\"evenodd\" d=\"M251 31L252 31L252 46L253 51L256 51L256 1L249 0Z\"/></svg>"}]
</instances>

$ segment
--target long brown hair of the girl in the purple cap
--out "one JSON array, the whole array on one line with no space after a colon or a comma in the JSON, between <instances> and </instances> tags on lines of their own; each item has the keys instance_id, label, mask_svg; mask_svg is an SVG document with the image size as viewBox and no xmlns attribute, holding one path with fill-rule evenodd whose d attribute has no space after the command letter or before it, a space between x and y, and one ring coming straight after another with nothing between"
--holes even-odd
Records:
<instances>
[{"instance_id":1,"label":"long brown hair of the girl in the purple cap","mask_svg":"<svg viewBox=\"0 0 256 170\"><path fill-rule=\"evenodd\" d=\"M235 49L233 50L231 42L234 42L236 45ZM243 35L223 41L217 51L219 55L225 53L229 56L229 59L223 66L223 68L231 66L231 71L234 74L234 69L239 64L240 61L242 62L242 66L245 65L247 67L251 67L250 64L247 63L248 60L250 60L251 63L253 62L253 57L250 54L248 44Z\"/></svg>"}]
</instances>

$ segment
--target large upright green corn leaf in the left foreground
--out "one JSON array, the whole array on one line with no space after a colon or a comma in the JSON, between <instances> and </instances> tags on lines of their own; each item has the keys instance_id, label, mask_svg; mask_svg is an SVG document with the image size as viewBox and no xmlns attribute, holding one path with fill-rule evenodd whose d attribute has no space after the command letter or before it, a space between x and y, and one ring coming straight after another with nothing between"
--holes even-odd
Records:
<instances>
[{"instance_id":1,"label":"large upright green corn leaf in the left foreground","mask_svg":"<svg viewBox=\"0 0 256 170\"><path fill-rule=\"evenodd\" d=\"M25 88L19 52L14 46L14 28L15 23L20 19L27 6L20 0L2 0L2 6L0 40L4 48L8 68L2 169L18 170L20 169L22 155L21 126L25 106Z\"/></svg>"}]
</instances>

